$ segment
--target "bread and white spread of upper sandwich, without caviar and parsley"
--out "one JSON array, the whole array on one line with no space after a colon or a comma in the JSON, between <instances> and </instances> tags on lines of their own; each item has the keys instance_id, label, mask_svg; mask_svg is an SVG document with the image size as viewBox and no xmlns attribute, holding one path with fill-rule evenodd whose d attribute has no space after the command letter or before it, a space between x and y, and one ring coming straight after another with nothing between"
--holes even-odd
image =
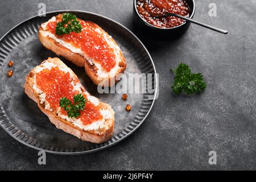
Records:
<instances>
[{"instance_id":1,"label":"bread and white spread of upper sandwich, without caviar and parsley","mask_svg":"<svg viewBox=\"0 0 256 182\"><path fill-rule=\"evenodd\" d=\"M59 16L60 15L53 16L48 20L48 22L43 23L39 27L38 37L43 46L55 52L57 55L63 56L65 59L72 61L72 63L77 66L85 67L86 74L92 79L94 84L113 86L115 82L117 82L117 80L115 80L115 76L117 76L118 73L123 73L125 71L126 61L121 49L117 43L115 43L112 36L102 30L102 28L96 23L84 21L85 23L88 23L88 26L92 28L95 34L98 34L101 39L104 40L107 46L113 49L115 66L110 71L105 71L96 57L88 56L80 47L75 47L73 44L65 42L61 36L57 36L49 30L47 24L49 22L55 22L56 17ZM90 49L94 49L94 47L90 47Z\"/></svg>"}]
</instances>

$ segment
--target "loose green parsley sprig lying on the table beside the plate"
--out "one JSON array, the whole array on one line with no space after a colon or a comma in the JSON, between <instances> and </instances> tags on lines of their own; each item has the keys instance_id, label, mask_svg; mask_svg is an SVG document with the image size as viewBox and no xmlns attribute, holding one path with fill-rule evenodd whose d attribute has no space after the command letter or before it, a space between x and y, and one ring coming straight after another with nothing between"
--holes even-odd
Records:
<instances>
[{"instance_id":1,"label":"loose green parsley sprig lying on the table beside the plate","mask_svg":"<svg viewBox=\"0 0 256 182\"><path fill-rule=\"evenodd\" d=\"M172 91L176 94L185 92L186 94L203 92L207 87L201 73L191 73L191 68L188 64L180 63L179 66L172 70L175 74L174 84L171 86Z\"/></svg>"}]
</instances>

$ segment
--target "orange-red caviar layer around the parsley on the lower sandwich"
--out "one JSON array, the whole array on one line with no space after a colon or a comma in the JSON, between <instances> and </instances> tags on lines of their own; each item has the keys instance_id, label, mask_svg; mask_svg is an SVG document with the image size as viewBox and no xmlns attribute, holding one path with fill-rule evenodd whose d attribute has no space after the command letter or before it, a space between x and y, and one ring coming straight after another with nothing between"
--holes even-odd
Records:
<instances>
[{"instance_id":1,"label":"orange-red caviar layer around the parsley on the lower sandwich","mask_svg":"<svg viewBox=\"0 0 256 182\"><path fill-rule=\"evenodd\" d=\"M59 102L62 97L67 97L73 102L73 96L79 94L79 91L74 89L72 81L75 82L69 72L65 73L58 67L46 68L36 73L36 85L46 93L46 101L53 110L56 110L60 106ZM83 96L86 99L86 95L83 94ZM67 115L67 112L63 108L61 108L61 113ZM85 108L80 114L81 116L78 118L81 119L84 125L102 119L100 108L87 99Z\"/></svg>"}]
</instances>

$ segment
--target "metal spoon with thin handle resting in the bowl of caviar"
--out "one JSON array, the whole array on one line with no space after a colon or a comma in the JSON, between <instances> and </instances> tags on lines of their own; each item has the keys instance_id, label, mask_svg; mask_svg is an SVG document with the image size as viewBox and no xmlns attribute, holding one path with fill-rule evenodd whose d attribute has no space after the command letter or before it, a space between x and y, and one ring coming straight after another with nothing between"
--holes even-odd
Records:
<instances>
[{"instance_id":1,"label":"metal spoon with thin handle resting in the bowl of caviar","mask_svg":"<svg viewBox=\"0 0 256 182\"><path fill-rule=\"evenodd\" d=\"M228 34L228 31L226 30L223 30L221 28L217 28L217 27L214 27L214 26L210 26L209 24L205 24L205 23L202 23L202 22L199 22L197 20L193 20L191 18L187 18L185 16L181 16L181 15L178 15L178 14L174 14L174 13L167 13L165 15L151 15L151 16L155 16L156 18L164 18L164 17L167 17L167 16L175 16L177 18L180 18L180 19L184 19L188 22L191 22L191 23L195 23L195 24L198 24L202 27L205 27L205 28L209 28L210 30L214 30L216 32L220 32L221 34Z\"/></svg>"}]
</instances>

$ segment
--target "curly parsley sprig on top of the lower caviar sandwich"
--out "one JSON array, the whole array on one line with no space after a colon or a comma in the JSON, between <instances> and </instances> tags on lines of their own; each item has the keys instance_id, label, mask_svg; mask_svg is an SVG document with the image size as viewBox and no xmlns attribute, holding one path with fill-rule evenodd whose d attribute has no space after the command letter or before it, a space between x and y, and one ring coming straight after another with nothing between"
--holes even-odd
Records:
<instances>
[{"instance_id":1,"label":"curly parsley sprig on top of the lower caviar sandwich","mask_svg":"<svg viewBox=\"0 0 256 182\"><path fill-rule=\"evenodd\" d=\"M77 94L73 97L73 104L67 97L62 97L60 99L60 107L63 107L68 113L69 118L79 117L80 111L84 110L85 107L85 98L82 94Z\"/></svg>"}]
</instances>

